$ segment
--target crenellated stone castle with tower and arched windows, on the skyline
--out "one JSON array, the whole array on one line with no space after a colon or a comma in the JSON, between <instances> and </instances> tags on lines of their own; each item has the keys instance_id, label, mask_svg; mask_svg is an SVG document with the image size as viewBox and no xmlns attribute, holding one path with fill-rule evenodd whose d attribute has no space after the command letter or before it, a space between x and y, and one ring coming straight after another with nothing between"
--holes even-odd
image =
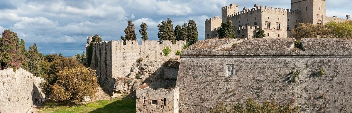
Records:
<instances>
[{"instance_id":1,"label":"crenellated stone castle with tower and arched windows, on the skyline","mask_svg":"<svg viewBox=\"0 0 352 113\"><path fill-rule=\"evenodd\" d=\"M291 9L254 5L254 8L243 8L238 11L237 4L221 8L221 18L215 16L205 21L205 39L218 37L221 23L232 21L237 38L253 38L256 28L262 28L265 38L287 38L298 23L326 24L328 21L350 20L326 17L326 0L291 0Z\"/></svg>"}]
</instances>

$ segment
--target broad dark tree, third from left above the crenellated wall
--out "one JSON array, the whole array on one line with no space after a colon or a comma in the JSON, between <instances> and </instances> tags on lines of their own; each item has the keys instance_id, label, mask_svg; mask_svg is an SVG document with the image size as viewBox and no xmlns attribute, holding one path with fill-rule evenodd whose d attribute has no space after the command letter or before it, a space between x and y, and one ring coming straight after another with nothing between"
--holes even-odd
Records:
<instances>
[{"instance_id":1,"label":"broad dark tree, third from left above the crenellated wall","mask_svg":"<svg viewBox=\"0 0 352 113\"><path fill-rule=\"evenodd\" d=\"M159 43L162 43L163 40L172 40L172 42L175 42L174 25L172 25L170 18L168 18L168 21L161 21L161 24L158 25L158 29Z\"/></svg>"}]
</instances>

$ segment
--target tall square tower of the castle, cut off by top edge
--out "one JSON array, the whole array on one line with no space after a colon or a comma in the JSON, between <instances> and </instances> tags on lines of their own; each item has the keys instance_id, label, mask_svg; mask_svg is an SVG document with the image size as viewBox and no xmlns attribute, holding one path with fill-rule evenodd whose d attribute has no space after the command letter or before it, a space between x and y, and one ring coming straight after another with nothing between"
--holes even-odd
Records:
<instances>
[{"instance_id":1,"label":"tall square tower of the castle, cut off by top edge","mask_svg":"<svg viewBox=\"0 0 352 113\"><path fill-rule=\"evenodd\" d=\"M291 0L291 8L299 13L301 23L325 24L326 0Z\"/></svg>"}]
</instances>

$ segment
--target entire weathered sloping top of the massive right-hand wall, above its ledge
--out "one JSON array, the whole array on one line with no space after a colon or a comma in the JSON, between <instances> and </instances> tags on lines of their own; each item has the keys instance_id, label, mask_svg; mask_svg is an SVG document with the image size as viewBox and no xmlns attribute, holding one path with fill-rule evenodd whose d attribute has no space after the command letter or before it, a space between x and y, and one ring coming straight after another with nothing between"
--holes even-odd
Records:
<instances>
[{"instance_id":1,"label":"entire weathered sloping top of the massive right-hand wall, above its ledge","mask_svg":"<svg viewBox=\"0 0 352 113\"><path fill-rule=\"evenodd\" d=\"M307 38L302 50L295 50L295 39L208 39L182 51L182 56L309 56L352 57L352 39ZM234 46L237 43L236 46Z\"/></svg>"}]
</instances>

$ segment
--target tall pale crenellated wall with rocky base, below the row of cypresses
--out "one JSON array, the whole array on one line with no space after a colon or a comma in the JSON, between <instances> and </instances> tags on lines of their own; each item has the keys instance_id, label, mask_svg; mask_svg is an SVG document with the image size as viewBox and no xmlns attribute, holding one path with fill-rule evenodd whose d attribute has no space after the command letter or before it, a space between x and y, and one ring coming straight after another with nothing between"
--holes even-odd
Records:
<instances>
[{"instance_id":1,"label":"tall pale crenellated wall with rocky base, below the row of cypresses","mask_svg":"<svg viewBox=\"0 0 352 113\"><path fill-rule=\"evenodd\" d=\"M97 70L98 82L103 90L114 96L126 93L132 88L133 83L127 83L125 80L127 77L136 77L129 74L137 59L143 58L143 61L159 63L157 68L162 69L162 64L170 58L176 57L175 51L181 51L185 42L176 41L176 44L172 44L172 41L164 40L163 44L159 44L157 40L146 40L138 45L138 41L128 40L126 44L123 41L105 41L92 44L93 53L90 68ZM86 44L87 55L88 47L89 44ZM166 47L171 50L168 57L162 51Z\"/></svg>"}]
</instances>

